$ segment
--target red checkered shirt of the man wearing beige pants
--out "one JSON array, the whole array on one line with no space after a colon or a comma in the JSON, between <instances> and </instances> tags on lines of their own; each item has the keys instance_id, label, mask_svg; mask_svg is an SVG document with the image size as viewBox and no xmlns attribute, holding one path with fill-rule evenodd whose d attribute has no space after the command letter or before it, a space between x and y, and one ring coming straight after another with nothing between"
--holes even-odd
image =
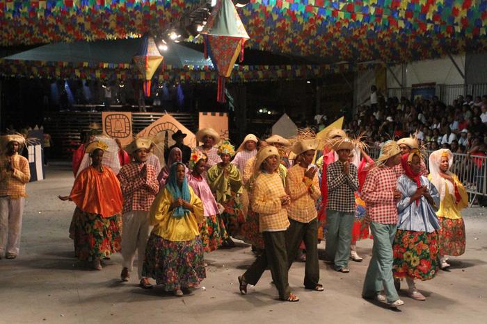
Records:
<instances>
[{"instance_id":1,"label":"red checkered shirt of the man wearing beige pants","mask_svg":"<svg viewBox=\"0 0 487 324\"><path fill-rule=\"evenodd\" d=\"M141 176L143 166L147 166L147 176ZM159 182L154 167L148 163L131 162L125 164L118 173L123 195L123 213L141 210L148 212L159 192Z\"/></svg>"}]
</instances>

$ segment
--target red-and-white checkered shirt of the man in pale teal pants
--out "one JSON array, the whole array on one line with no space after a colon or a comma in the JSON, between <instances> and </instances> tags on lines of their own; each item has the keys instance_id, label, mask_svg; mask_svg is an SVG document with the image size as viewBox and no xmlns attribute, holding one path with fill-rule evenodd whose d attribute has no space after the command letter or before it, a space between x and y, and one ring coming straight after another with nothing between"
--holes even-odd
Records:
<instances>
[{"instance_id":1,"label":"red-and-white checkered shirt of the man in pale teal pants","mask_svg":"<svg viewBox=\"0 0 487 324\"><path fill-rule=\"evenodd\" d=\"M397 224L396 187L397 178L393 168L383 165L369 171L361 193L367 207L367 221Z\"/></svg>"}]
</instances>

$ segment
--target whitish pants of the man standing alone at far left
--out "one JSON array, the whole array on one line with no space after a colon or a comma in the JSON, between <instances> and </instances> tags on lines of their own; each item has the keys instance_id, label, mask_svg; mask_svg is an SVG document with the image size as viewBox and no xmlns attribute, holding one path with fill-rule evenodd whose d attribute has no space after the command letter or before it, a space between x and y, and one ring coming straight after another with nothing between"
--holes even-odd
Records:
<instances>
[{"instance_id":1,"label":"whitish pants of the man standing alone at far left","mask_svg":"<svg viewBox=\"0 0 487 324\"><path fill-rule=\"evenodd\" d=\"M19 255L25 198L0 197L0 255Z\"/></svg>"}]
</instances>

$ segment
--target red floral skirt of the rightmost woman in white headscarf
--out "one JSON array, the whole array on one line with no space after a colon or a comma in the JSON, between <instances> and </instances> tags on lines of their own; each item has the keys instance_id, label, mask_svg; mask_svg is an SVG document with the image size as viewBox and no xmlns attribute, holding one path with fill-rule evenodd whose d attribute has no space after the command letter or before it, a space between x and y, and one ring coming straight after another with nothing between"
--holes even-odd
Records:
<instances>
[{"instance_id":1,"label":"red floral skirt of the rightmost woman in white headscarf","mask_svg":"<svg viewBox=\"0 0 487 324\"><path fill-rule=\"evenodd\" d=\"M441 228L438 230L440 255L463 255L465 253L465 223L463 219L438 217Z\"/></svg>"}]
</instances>

